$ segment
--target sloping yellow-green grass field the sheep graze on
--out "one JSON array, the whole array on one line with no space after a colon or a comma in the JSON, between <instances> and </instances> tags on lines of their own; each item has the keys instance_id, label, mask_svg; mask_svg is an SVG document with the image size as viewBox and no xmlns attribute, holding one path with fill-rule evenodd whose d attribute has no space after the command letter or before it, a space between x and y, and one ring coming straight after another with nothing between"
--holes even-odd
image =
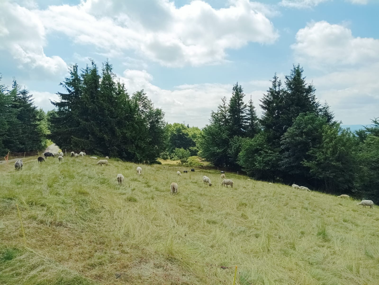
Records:
<instances>
[{"instance_id":1,"label":"sloping yellow-green grass field the sheep graze on","mask_svg":"<svg viewBox=\"0 0 379 285\"><path fill-rule=\"evenodd\" d=\"M212 171L142 165L138 177L136 164L96 162L0 168L0 284L232 285L235 265L239 285L379 284L377 206L229 173L234 188Z\"/></svg>"}]
</instances>

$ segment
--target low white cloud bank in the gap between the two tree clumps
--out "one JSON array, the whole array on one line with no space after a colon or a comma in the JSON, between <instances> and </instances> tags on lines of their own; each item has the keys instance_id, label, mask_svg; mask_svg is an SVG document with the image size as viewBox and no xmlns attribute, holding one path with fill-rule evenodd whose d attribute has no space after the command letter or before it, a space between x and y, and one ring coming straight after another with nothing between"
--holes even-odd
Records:
<instances>
[{"instance_id":1,"label":"low white cloud bank in the gap between the two tree clumps","mask_svg":"<svg viewBox=\"0 0 379 285\"><path fill-rule=\"evenodd\" d=\"M175 86L173 90L161 89L152 85L153 77L146 70L125 70L121 81L124 81L125 87L129 93L144 89L155 106L162 108L165 112L166 121L183 122L186 124L204 127L208 124L211 111L216 111L217 106L221 103L221 98L226 96L230 99L232 94L232 84L205 83ZM269 81L251 81L246 83L247 88L244 90L245 102L252 100L254 105L258 106L259 99L262 97L263 90L267 89ZM246 87L242 83L243 87ZM262 88L262 89L259 89ZM254 91L250 91L254 90Z\"/></svg>"}]
</instances>

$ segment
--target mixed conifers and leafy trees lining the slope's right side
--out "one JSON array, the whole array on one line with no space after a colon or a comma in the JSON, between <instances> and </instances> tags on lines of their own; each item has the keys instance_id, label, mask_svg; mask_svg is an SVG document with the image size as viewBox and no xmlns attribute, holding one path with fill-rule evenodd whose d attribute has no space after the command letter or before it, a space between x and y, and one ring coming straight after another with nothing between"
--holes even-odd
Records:
<instances>
[{"instance_id":1,"label":"mixed conifers and leafy trees lining the slope's right side","mask_svg":"<svg viewBox=\"0 0 379 285\"><path fill-rule=\"evenodd\" d=\"M199 155L215 166L234 167L255 179L296 183L327 193L352 193L379 202L379 122L355 133L341 128L304 70L293 66L282 81L275 74L257 117L243 88L202 129Z\"/></svg>"}]
</instances>

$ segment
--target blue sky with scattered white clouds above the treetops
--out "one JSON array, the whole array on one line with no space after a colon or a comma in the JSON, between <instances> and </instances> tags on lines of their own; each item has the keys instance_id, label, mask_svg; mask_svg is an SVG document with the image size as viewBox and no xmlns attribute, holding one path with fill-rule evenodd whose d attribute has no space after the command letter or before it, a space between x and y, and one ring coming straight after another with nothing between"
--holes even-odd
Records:
<instances>
[{"instance_id":1,"label":"blue sky with scattered white clouds above the treetops","mask_svg":"<svg viewBox=\"0 0 379 285\"><path fill-rule=\"evenodd\" d=\"M343 124L379 117L379 0L0 0L0 73L52 110L70 65L108 60L169 123L204 127L238 82L260 99L304 68Z\"/></svg>"}]
</instances>

